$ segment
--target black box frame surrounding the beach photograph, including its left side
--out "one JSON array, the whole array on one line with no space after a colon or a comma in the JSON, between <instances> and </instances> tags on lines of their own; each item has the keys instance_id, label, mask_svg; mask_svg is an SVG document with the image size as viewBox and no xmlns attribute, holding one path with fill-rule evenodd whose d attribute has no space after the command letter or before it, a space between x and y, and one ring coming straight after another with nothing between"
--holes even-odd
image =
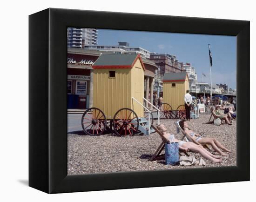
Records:
<instances>
[{"instance_id":1,"label":"black box frame surrounding the beach photograph, including its left side","mask_svg":"<svg viewBox=\"0 0 256 202\"><path fill-rule=\"evenodd\" d=\"M67 27L237 39L237 166L67 175ZM46 193L249 181L249 21L48 8L29 16L29 186Z\"/></svg>"}]
</instances>

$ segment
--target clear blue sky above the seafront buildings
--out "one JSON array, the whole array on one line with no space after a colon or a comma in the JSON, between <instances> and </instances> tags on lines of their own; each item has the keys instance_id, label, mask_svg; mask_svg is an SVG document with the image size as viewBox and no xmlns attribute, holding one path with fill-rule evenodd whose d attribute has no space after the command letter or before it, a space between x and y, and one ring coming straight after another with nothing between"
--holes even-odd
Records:
<instances>
[{"instance_id":1,"label":"clear blue sky above the seafront buildings","mask_svg":"<svg viewBox=\"0 0 256 202\"><path fill-rule=\"evenodd\" d=\"M197 81L208 83L210 44L212 84L226 83L229 88L236 89L236 36L99 29L98 45L118 45L118 41L150 52L174 54L179 62L188 62L195 67Z\"/></svg>"}]
</instances>

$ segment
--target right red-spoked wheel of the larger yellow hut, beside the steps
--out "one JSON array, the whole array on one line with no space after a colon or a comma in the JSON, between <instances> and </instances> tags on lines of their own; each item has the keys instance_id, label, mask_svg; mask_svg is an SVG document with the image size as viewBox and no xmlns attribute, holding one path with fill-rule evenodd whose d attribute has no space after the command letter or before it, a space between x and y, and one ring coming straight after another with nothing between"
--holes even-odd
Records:
<instances>
[{"instance_id":1,"label":"right red-spoked wheel of the larger yellow hut, beside the steps","mask_svg":"<svg viewBox=\"0 0 256 202\"><path fill-rule=\"evenodd\" d=\"M139 128L137 114L129 108L119 109L113 118L113 129L116 135L134 135Z\"/></svg>"}]
</instances>

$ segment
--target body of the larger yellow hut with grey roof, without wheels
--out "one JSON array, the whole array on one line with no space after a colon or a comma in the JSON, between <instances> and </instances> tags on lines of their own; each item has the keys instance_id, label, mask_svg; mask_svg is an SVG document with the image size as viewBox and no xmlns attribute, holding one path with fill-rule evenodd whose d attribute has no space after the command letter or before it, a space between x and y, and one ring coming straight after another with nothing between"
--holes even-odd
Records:
<instances>
[{"instance_id":1,"label":"body of the larger yellow hut with grey roof, without wheels","mask_svg":"<svg viewBox=\"0 0 256 202\"><path fill-rule=\"evenodd\" d=\"M145 67L139 54L102 54L93 65L93 107L112 119L121 108L130 108L143 117Z\"/></svg>"}]
</instances>

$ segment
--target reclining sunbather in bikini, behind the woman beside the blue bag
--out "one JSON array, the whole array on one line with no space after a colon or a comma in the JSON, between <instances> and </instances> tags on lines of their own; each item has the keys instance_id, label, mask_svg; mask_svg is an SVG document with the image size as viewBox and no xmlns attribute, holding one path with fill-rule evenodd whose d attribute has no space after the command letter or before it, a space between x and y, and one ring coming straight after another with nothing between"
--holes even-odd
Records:
<instances>
[{"instance_id":1,"label":"reclining sunbather in bikini, behind the woman beside the blue bag","mask_svg":"<svg viewBox=\"0 0 256 202\"><path fill-rule=\"evenodd\" d=\"M217 141L215 138L210 138L210 137L202 137L199 134L196 134L194 131L189 129L188 123L185 120L179 121L180 127L182 128L182 130L184 130L184 132L189 135L191 138L193 138L195 141L197 141L198 143L202 144L202 145L206 145L209 144L212 146L212 148L218 152L220 155L227 155L225 153L223 153L220 148L225 151L225 152L231 152L229 149L224 148L222 146L222 144Z\"/></svg>"}]
</instances>

